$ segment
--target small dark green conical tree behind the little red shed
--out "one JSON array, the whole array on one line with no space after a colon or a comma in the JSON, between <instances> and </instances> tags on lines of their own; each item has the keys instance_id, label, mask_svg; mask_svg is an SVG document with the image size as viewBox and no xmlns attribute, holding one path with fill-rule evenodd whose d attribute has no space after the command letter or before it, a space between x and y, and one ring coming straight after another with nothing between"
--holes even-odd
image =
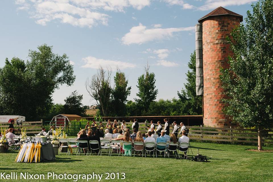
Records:
<instances>
[{"instance_id":1,"label":"small dark green conical tree behind the little red shed","mask_svg":"<svg viewBox=\"0 0 273 182\"><path fill-rule=\"evenodd\" d=\"M75 90L70 96L65 99L65 104L63 105L64 114L76 114L79 116L86 115L86 109L82 105L83 95L78 95Z\"/></svg>"}]
</instances>

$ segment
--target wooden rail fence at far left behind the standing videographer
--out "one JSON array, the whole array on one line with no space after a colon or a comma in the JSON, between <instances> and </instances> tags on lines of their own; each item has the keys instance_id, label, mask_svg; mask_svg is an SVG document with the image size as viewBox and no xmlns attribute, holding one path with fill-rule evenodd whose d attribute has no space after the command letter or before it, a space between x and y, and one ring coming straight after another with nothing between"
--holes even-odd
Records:
<instances>
[{"instance_id":1,"label":"wooden rail fence at far left behind the standing videographer","mask_svg":"<svg viewBox=\"0 0 273 182\"><path fill-rule=\"evenodd\" d=\"M8 129L9 125L10 123L0 122L0 128L2 129ZM17 126L15 123L14 128L20 128L21 131L26 129L27 134L37 134L42 131L42 121L25 121L24 123ZM17 134L17 132L15 132L15 134ZM18 132L18 135L20 135L20 131Z\"/></svg>"}]
</instances>

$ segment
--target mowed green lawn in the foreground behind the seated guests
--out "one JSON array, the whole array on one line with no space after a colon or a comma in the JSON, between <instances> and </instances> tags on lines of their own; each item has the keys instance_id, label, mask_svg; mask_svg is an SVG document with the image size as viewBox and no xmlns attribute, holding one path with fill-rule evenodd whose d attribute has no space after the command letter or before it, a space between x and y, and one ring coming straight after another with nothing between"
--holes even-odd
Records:
<instances>
[{"instance_id":1,"label":"mowed green lawn in the foreground behind the seated guests","mask_svg":"<svg viewBox=\"0 0 273 182\"><path fill-rule=\"evenodd\" d=\"M103 174L101 181L273 181L273 153L251 152L255 146L191 142L193 154L212 156L209 162L175 158L127 156L76 156L61 154L55 161L38 164L15 163L17 152L1 153L0 172L30 174ZM264 147L273 150L273 147ZM191 154L191 150L189 151ZM125 179L104 179L108 173L125 173ZM11 181L11 180L0 180ZM16 180L37 181L37 180ZM73 180L38 180L73 181ZM86 181L86 180L78 180ZM98 180L90 180L98 181Z\"/></svg>"}]
</instances>

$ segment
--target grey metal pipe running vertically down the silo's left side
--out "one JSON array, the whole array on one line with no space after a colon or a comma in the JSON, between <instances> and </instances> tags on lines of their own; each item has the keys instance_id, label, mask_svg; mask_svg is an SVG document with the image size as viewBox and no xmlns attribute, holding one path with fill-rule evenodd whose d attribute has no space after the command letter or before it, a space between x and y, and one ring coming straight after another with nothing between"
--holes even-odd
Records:
<instances>
[{"instance_id":1,"label":"grey metal pipe running vertically down the silo's left side","mask_svg":"<svg viewBox=\"0 0 273 182\"><path fill-rule=\"evenodd\" d=\"M203 40L202 23L195 25L196 95L203 95Z\"/></svg>"}]
</instances>

